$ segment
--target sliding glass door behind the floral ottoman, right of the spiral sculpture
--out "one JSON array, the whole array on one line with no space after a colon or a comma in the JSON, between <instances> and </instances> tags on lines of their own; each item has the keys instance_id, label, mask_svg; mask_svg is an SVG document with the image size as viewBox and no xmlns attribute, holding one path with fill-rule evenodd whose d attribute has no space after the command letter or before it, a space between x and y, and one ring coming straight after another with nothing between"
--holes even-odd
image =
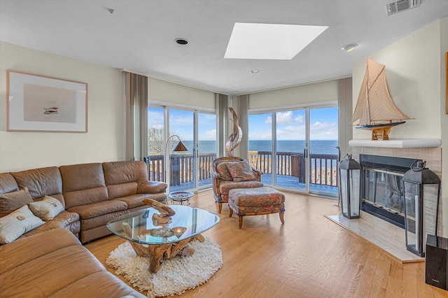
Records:
<instances>
[{"instance_id":1,"label":"sliding glass door behind the floral ottoman, right of the spiral sculpture","mask_svg":"<svg viewBox=\"0 0 448 298\"><path fill-rule=\"evenodd\" d=\"M337 196L337 107L250 114L249 161L262 182Z\"/></svg>"}]
</instances>

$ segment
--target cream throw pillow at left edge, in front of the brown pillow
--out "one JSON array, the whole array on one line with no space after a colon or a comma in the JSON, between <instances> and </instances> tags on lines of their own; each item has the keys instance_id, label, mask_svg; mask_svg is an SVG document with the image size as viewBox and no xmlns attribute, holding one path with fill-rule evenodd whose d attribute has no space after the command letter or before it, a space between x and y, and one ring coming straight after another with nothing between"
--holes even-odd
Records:
<instances>
[{"instance_id":1,"label":"cream throw pillow at left edge, in front of the brown pillow","mask_svg":"<svg viewBox=\"0 0 448 298\"><path fill-rule=\"evenodd\" d=\"M44 223L29 210L27 205L22 206L0 218L0 244L13 242L31 229L36 229Z\"/></svg>"}]
</instances>

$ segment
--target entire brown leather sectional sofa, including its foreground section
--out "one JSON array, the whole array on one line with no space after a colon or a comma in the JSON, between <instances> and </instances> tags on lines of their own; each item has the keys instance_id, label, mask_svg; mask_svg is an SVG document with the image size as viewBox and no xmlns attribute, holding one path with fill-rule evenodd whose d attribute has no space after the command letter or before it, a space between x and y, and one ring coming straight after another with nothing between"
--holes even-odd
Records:
<instances>
[{"instance_id":1,"label":"entire brown leather sectional sofa, including its foreground section","mask_svg":"<svg viewBox=\"0 0 448 298\"><path fill-rule=\"evenodd\" d=\"M144 297L109 274L80 243L111 234L106 223L147 208L144 198L166 204L167 185L148 181L144 162L0 173L0 194L24 187L34 201L54 197L64 211L0 246L0 297Z\"/></svg>"}]
</instances>

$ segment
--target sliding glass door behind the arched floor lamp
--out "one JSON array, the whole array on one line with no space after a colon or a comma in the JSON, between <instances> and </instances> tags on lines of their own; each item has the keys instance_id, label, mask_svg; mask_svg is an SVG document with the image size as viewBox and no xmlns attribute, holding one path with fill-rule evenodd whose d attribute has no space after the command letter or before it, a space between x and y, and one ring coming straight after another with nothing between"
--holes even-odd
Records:
<instances>
[{"instance_id":1,"label":"sliding glass door behind the arched floor lamp","mask_svg":"<svg viewBox=\"0 0 448 298\"><path fill-rule=\"evenodd\" d=\"M186 151L174 151L179 141ZM209 187L216 157L216 115L149 107L148 156L150 179L169 183L169 192Z\"/></svg>"}]
</instances>

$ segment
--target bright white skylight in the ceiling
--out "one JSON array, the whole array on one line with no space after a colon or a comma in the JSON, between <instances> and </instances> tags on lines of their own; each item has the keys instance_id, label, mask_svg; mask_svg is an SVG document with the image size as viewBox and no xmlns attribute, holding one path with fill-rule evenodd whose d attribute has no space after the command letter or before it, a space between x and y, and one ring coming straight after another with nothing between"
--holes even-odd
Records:
<instances>
[{"instance_id":1,"label":"bright white skylight in the ceiling","mask_svg":"<svg viewBox=\"0 0 448 298\"><path fill-rule=\"evenodd\" d=\"M227 59L293 59L328 26L235 23Z\"/></svg>"}]
</instances>

